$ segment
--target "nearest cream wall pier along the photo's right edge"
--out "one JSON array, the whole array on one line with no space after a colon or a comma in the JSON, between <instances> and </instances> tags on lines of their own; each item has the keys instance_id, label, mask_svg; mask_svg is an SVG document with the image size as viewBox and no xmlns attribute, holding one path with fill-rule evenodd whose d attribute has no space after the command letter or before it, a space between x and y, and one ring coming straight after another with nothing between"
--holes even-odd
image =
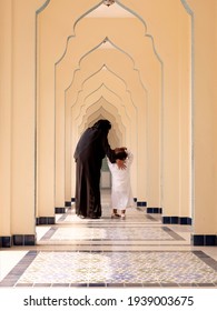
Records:
<instances>
[{"instance_id":1,"label":"nearest cream wall pier along the photo's right edge","mask_svg":"<svg viewBox=\"0 0 217 311\"><path fill-rule=\"evenodd\" d=\"M196 234L217 233L216 222L216 17L215 0L188 1L195 16L194 153Z\"/></svg>"}]
</instances>

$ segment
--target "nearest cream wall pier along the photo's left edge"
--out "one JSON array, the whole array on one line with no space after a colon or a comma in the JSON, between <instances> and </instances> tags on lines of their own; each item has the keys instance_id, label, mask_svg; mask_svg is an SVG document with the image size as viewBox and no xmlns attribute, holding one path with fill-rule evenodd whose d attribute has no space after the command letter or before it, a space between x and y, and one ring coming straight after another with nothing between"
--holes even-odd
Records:
<instances>
[{"instance_id":1,"label":"nearest cream wall pier along the photo's left edge","mask_svg":"<svg viewBox=\"0 0 217 311\"><path fill-rule=\"evenodd\" d=\"M0 1L0 235L34 234L36 10L45 1ZM28 12L28 14L27 14Z\"/></svg>"}]
</instances>

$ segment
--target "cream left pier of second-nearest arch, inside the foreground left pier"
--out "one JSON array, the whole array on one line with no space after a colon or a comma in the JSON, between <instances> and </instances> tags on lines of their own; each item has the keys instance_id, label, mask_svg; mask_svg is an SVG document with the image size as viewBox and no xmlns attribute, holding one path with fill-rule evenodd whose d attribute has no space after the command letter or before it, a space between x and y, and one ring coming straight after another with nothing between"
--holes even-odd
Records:
<instances>
[{"instance_id":1,"label":"cream left pier of second-nearest arch, inside the foreground left pier","mask_svg":"<svg viewBox=\"0 0 217 311\"><path fill-rule=\"evenodd\" d=\"M38 16L38 215L52 217L53 207L65 205L65 94L61 84L69 78L61 76L61 81L56 70L75 20L86 7L87 3L80 3L71 10L71 1L62 6L52 0Z\"/></svg>"}]
</instances>

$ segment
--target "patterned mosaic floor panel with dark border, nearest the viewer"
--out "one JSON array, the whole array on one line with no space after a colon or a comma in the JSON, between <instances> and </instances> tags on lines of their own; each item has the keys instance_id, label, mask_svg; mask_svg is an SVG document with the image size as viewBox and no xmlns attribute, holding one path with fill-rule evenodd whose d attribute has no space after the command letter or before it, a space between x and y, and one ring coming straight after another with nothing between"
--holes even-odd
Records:
<instances>
[{"instance_id":1,"label":"patterned mosaic floor panel with dark border, nearest the viewer","mask_svg":"<svg viewBox=\"0 0 217 311\"><path fill-rule=\"evenodd\" d=\"M216 287L217 263L201 251L30 251L0 285Z\"/></svg>"}]
</instances>

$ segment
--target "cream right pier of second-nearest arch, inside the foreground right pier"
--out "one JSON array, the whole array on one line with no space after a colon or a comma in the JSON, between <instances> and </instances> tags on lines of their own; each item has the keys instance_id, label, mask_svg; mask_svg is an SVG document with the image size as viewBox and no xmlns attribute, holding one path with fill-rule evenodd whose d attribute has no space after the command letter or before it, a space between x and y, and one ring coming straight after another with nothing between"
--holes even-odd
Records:
<instances>
[{"instance_id":1,"label":"cream right pier of second-nearest arch, inside the foreground right pier","mask_svg":"<svg viewBox=\"0 0 217 311\"><path fill-rule=\"evenodd\" d=\"M155 1L158 10L145 2L146 7L144 1L135 4L162 66L161 207L166 215L190 217L190 17L180 1Z\"/></svg>"}]
</instances>

